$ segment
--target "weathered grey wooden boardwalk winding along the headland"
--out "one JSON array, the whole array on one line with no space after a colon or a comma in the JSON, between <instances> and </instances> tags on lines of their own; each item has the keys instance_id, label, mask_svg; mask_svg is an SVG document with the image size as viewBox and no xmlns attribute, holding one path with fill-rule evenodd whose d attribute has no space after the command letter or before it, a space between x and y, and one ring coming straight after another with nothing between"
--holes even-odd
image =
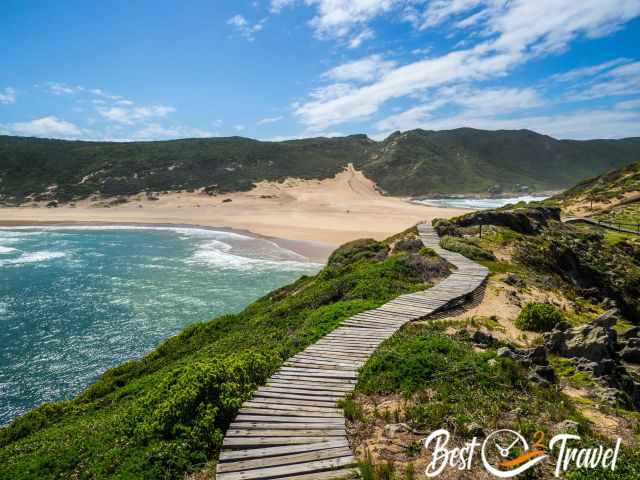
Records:
<instances>
[{"instance_id":1,"label":"weathered grey wooden boardwalk winding along the headland","mask_svg":"<svg viewBox=\"0 0 640 480\"><path fill-rule=\"evenodd\" d=\"M348 318L291 357L243 404L227 430L218 480L324 480L358 474L336 402L354 389L358 369L382 342L405 323L464 301L489 273L440 248L430 225L418 225L418 232L426 246L457 270L433 288L400 295Z\"/></svg>"}]
</instances>

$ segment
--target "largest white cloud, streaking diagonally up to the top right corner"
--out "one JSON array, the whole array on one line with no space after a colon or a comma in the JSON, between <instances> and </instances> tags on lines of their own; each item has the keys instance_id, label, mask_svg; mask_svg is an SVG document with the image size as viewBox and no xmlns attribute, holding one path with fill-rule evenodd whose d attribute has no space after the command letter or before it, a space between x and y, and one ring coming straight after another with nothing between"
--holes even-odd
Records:
<instances>
[{"instance_id":1,"label":"largest white cloud, streaking diagonally up to the top right corner","mask_svg":"<svg viewBox=\"0 0 640 480\"><path fill-rule=\"evenodd\" d=\"M342 5L342 2L337 3ZM300 105L295 114L308 129L317 131L366 119L391 99L447 84L505 75L535 56L562 51L579 35L596 37L609 33L640 14L640 2L637 0L485 0L482 4L460 2L458 5L461 6L455 12L470 11L471 4L485 9L479 28L490 36L485 36L481 43L440 57L398 66L368 85L344 89L343 95L319 99L314 91L310 100ZM389 6L390 2L385 2L385 7ZM442 8L444 10L431 18L447 18L453 14L451 8ZM363 18L371 17L365 15ZM326 25L341 25L341 22L335 20Z\"/></svg>"}]
</instances>

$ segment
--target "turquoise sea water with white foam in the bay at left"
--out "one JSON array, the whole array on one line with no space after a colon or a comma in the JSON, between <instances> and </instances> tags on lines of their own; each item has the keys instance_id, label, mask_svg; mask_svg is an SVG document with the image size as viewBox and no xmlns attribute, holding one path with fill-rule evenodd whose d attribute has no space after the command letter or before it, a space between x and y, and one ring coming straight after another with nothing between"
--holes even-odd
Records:
<instances>
[{"instance_id":1,"label":"turquoise sea water with white foam in the bay at left","mask_svg":"<svg viewBox=\"0 0 640 480\"><path fill-rule=\"evenodd\" d=\"M320 265L199 229L0 229L0 425Z\"/></svg>"}]
</instances>

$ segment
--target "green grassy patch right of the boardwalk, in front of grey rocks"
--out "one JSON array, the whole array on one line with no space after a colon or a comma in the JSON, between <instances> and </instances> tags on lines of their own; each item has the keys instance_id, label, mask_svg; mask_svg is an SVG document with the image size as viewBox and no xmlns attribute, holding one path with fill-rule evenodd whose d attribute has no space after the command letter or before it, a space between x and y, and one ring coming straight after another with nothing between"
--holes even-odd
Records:
<instances>
[{"instance_id":1,"label":"green grassy patch right of the boardwalk, in front of grey rocks","mask_svg":"<svg viewBox=\"0 0 640 480\"><path fill-rule=\"evenodd\" d=\"M402 393L410 399L406 416L414 427L463 436L473 422L491 429L514 411L520 412L514 424L520 418L540 419L541 427L567 418L584 421L567 398L530 384L516 363L496 358L495 351L476 352L437 325L408 325L385 342L363 367L356 391Z\"/></svg>"}]
</instances>

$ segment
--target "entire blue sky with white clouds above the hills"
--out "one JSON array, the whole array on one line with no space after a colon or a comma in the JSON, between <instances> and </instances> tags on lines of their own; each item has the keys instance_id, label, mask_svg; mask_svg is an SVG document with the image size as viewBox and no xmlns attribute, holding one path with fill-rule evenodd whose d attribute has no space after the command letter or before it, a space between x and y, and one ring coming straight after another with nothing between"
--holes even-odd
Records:
<instances>
[{"instance_id":1,"label":"entire blue sky with white clouds above the hills","mask_svg":"<svg viewBox=\"0 0 640 480\"><path fill-rule=\"evenodd\" d=\"M5 0L0 134L640 136L640 0Z\"/></svg>"}]
</instances>

